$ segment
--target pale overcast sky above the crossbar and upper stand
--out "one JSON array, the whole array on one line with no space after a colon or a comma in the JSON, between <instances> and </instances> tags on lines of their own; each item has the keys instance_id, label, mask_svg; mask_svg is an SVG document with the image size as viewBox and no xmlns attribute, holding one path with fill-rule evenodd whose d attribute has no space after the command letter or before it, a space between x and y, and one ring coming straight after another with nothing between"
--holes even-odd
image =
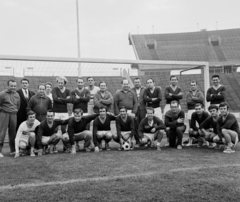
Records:
<instances>
[{"instance_id":1,"label":"pale overcast sky above the crossbar and upper stand","mask_svg":"<svg viewBox=\"0 0 240 202\"><path fill-rule=\"evenodd\" d=\"M129 33L239 28L239 7L239 0L79 0L81 57L135 59ZM2 55L77 57L76 33L76 0L0 0Z\"/></svg>"}]
</instances>

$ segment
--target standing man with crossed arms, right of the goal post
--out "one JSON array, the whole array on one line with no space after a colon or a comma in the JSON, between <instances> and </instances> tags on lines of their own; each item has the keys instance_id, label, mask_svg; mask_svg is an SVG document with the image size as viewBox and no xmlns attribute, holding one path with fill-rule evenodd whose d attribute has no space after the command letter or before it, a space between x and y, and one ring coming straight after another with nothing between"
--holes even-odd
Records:
<instances>
[{"instance_id":1,"label":"standing man with crossed arms, right of the goal post","mask_svg":"<svg viewBox=\"0 0 240 202\"><path fill-rule=\"evenodd\" d=\"M219 106L221 102L225 102L226 87L220 84L220 76L217 74L212 75L212 84L207 91L207 102Z\"/></svg>"}]
</instances>

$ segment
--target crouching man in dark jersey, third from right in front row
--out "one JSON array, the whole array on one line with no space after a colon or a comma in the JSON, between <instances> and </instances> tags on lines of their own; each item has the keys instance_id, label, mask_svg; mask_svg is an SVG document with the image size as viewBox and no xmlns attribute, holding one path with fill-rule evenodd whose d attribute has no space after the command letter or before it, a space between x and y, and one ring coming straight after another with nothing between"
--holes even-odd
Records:
<instances>
[{"instance_id":1,"label":"crouching man in dark jersey, third from right in front row","mask_svg":"<svg viewBox=\"0 0 240 202\"><path fill-rule=\"evenodd\" d=\"M204 142L204 133L200 130L198 126L209 117L209 114L204 111L203 105L201 103L195 104L195 112L192 113L190 126L189 126L189 143L186 146L192 145L193 138L198 139L198 147L202 146Z\"/></svg>"}]
</instances>

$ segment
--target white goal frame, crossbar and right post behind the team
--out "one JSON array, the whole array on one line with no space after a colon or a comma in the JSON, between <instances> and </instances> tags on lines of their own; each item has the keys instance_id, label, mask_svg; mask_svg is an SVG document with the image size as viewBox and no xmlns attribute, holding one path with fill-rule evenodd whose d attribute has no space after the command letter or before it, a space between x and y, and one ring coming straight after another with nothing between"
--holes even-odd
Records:
<instances>
[{"instance_id":1,"label":"white goal frame, crossbar and right post behind the team","mask_svg":"<svg viewBox=\"0 0 240 202\"><path fill-rule=\"evenodd\" d=\"M97 58L73 58L73 57L41 57L41 56L16 56L16 55L0 55L0 61L10 60L10 61L38 61L38 62L67 62L67 63L102 63L102 64L129 64L129 65L164 65L171 66L174 65L174 70L182 70L183 66L194 68L203 68L204 76L204 92L205 97L207 90L210 86L209 84L209 63L205 61L163 61L163 60L121 60L121 59L97 59ZM179 67L178 67L179 65ZM157 67L158 70L165 69L162 66ZM172 69L169 69L172 70ZM79 72L81 72L79 70ZM81 75L78 75L81 76ZM89 75L91 76L91 75ZM206 102L205 109L208 107Z\"/></svg>"}]
</instances>

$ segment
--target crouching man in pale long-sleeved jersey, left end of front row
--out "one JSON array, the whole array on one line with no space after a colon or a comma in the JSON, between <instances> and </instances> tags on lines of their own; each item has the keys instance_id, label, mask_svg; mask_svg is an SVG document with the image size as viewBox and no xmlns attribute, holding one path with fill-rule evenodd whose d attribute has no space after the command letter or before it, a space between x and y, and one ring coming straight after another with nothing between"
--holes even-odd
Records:
<instances>
[{"instance_id":1,"label":"crouching man in pale long-sleeved jersey, left end of front row","mask_svg":"<svg viewBox=\"0 0 240 202\"><path fill-rule=\"evenodd\" d=\"M35 156L34 145L36 142L36 128L40 122L35 118L35 113L29 111L27 113L27 120L22 122L18 128L17 135L15 138L15 158L20 156L19 148L26 150L30 146L30 156Z\"/></svg>"}]
</instances>

